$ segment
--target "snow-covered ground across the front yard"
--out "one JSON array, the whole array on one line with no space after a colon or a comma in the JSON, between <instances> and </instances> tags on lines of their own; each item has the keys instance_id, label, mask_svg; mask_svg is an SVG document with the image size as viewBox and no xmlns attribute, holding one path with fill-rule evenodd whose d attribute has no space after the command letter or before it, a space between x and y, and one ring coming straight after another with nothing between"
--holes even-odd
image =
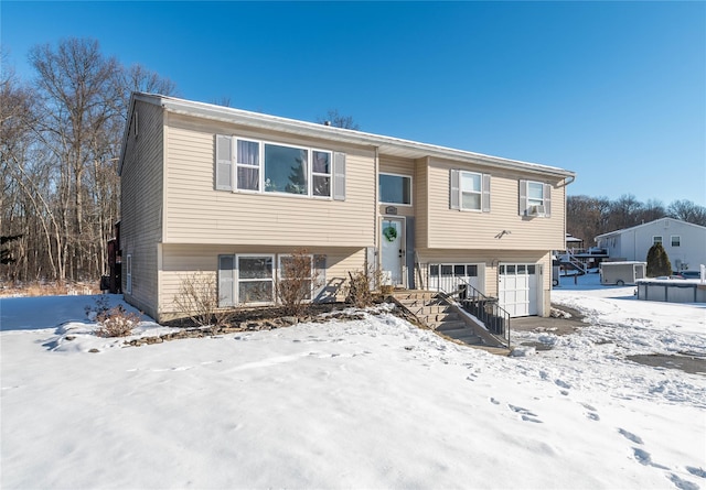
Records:
<instances>
[{"instance_id":1,"label":"snow-covered ground across the front yard","mask_svg":"<svg viewBox=\"0 0 706 490\"><path fill-rule=\"evenodd\" d=\"M706 374L625 359L706 356L706 305L579 281L587 326L507 358L384 312L122 347L90 297L2 298L0 486L706 489Z\"/></svg>"}]
</instances>

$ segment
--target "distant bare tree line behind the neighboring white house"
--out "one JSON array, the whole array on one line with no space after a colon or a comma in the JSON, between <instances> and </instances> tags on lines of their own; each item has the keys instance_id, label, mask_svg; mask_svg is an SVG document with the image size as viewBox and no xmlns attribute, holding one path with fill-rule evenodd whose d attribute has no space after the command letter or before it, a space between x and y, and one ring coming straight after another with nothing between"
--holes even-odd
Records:
<instances>
[{"instance_id":1,"label":"distant bare tree line behind the neighboring white house","mask_svg":"<svg viewBox=\"0 0 706 490\"><path fill-rule=\"evenodd\" d=\"M566 231L582 239L586 248L591 247L599 235L665 217L706 226L706 207L686 199L674 200L665 207L659 200L641 203L631 194L614 200L589 196L566 199Z\"/></svg>"}]
</instances>

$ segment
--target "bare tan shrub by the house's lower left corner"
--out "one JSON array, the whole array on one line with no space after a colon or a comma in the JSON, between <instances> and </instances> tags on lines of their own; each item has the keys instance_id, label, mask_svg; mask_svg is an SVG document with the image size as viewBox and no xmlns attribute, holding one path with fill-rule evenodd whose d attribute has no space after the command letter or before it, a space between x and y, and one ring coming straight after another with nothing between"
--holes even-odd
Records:
<instances>
[{"instance_id":1,"label":"bare tan shrub by the house's lower left corner","mask_svg":"<svg viewBox=\"0 0 706 490\"><path fill-rule=\"evenodd\" d=\"M232 309L218 306L218 288L215 280L202 272L181 277L179 293L174 296L176 312L201 326L225 325Z\"/></svg>"}]
</instances>

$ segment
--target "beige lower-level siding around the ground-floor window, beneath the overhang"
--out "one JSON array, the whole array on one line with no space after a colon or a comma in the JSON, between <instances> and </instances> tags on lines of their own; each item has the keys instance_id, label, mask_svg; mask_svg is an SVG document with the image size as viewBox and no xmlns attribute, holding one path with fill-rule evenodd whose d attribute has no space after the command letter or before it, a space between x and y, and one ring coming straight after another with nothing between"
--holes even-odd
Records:
<instances>
[{"instance_id":1,"label":"beige lower-level siding around the ground-floor window, beneath the overhang","mask_svg":"<svg viewBox=\"0 0 706 490\"><path fill-rule=\"evenodd\" d=\"M193 274L205 274L214 282L217 280L218 255L224 254L288 254L292 247L247 247L247 246L204 246L204 244L163 244L160 270L160 318L172 318L174 296L179 293L181 281ZM345 298L344 284L349 271L362 271L365 265L365 249L322 247L308 249L309 253L327 257L325 285L335 294L336 301ZM276 265L277 266L277 265Z\"/></svg>"}]
</instances>

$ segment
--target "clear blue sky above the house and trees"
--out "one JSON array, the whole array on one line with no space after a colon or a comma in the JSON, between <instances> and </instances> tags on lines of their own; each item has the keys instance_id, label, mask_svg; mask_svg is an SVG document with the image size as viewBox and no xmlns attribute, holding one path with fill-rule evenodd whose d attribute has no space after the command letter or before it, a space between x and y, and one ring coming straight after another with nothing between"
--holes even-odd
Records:
<instances>
[{"instance_id":1,"label":"clear blue sky above the house and trees","mask_svg":"<svg viewBox=\"0 0 706 490\"><path fill-rule=\"evenodd\" d=\"M0 4L2 50L94 37L179 96L578 174L569 195L706 205L706 2Z\"/></svg>"}]
</instances>

